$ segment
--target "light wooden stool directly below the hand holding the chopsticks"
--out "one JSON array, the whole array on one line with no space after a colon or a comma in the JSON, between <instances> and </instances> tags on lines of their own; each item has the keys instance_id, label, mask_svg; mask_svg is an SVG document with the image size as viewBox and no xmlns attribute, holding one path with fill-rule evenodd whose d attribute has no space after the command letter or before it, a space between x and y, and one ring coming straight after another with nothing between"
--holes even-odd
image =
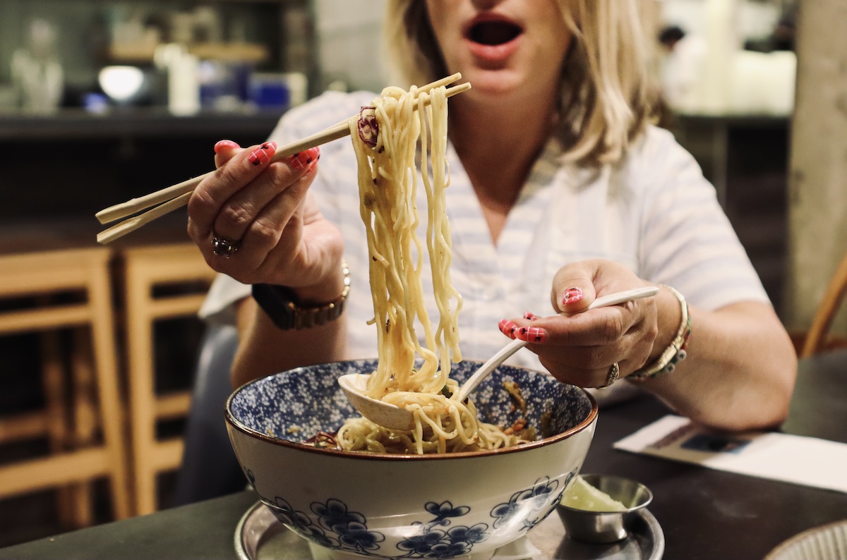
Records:
<instances>
[{"instance_id":1,"label":"light wooden stool directly below the hand holding the chopsticks","mask_svg":"<svg viewBox=\"0 0 847 560\"><path fill-rule=\"evenodd\" d=\"M157 509L158 473L176 469L182 460L181 436L158 439L160 420L185 417L191 393L158 394L155 387L153 323L192 316L200 309L215 272L194 244L157 244L122 251L125 277L125 329L133 493L137 515ZM158 295L158 286L185 285L193 293ZM222 420L223 421L223 420Z\"/></svg>"}]
</instances>

